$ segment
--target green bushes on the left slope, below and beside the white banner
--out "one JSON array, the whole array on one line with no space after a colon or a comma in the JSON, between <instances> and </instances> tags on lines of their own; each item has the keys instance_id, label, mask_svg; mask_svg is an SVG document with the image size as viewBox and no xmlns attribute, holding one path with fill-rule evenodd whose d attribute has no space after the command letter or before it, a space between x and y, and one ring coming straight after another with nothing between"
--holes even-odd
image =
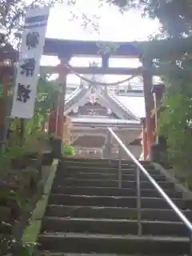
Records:
<instances>
[{"instance_id":1,"label":"green bushes on the left slope, below and beside the white banner","mask_svg":"<svg viewBox=\"0 0 192 256\"><path fill-rule=\"evenodd\" d=\"M35 102L34 118L25 122L25 140L22 146L18 134L20 120L14 118L10 122L10 139L5 152L0 154L0 201L6 202L13 212L17 213L15 218L11 217L10 223L2 223L0 228L7 230L9 224L14 227L14 223L21 217L22 209L26 206L31 194L34 194L36 185L41 175L35 165L38 158L31 157L31 150L34 149L40 154L42 142L47 142L48 135L42 129L42 122L46 122L50 110L58 101L58 91L51 82L46 79L39 79L38 93ZM36 143L37 142L37 143ZM28 144L27 144L28 143ZM43 150L43 149L42 149ZM27 168L26 168L27 167ZM2 186L3 185L3 186ZM36 193L36 192L35 192ZM8 205L8 202L10 205ZM8 252L18 256L32 255L33 244L23 244L11 235L5 235L0 242L0 254L6 255Z\"/></svg>"}]
</instances>

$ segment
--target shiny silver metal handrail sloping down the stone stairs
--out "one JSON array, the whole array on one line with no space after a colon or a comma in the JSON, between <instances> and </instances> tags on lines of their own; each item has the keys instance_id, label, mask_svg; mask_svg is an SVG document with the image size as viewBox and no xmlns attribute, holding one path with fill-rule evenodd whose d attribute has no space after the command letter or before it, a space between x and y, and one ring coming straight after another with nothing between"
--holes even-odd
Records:
<instances>
[{"instance_id":1,"label":"shiny silver metal handrail sloping down the stone stairs","mask_svg":"<svg viewBox=\"0 0 192 256\"><path fill-rule=\"evenodd\" d=\"M190 236L192 234L192 224L191 222L186 218L184 214L182 214L182 211L179 210L178 206L174 204L174 202L169 198L169 196L162 190L161 186L158 185L158 183L150 176L150 174L147 172L147 170L142 166L140 162L138 162L137 158L134 157L134 155L126 148L124 143L121 141L120 138L114 133L114 131L107 127L107 129L110 131L110 134L113 136L113 138L118 142L118 145L121 146L122 150L128 154L128 156L131 158L131 160L134 162L134 164L138 167L139 170L142 171L143 174L146 175L146 177L149 179L149 181L154 185L156 190L158 190L158 193L162 195L162 198L166 200L168 205L172 210L174 210L174 213L178 215L178 218L186 225L188 230L190 230ZM139 172L140 173L140 172ZM138 232L139 233L139 232Z\"/></svg>"}]
</instances>

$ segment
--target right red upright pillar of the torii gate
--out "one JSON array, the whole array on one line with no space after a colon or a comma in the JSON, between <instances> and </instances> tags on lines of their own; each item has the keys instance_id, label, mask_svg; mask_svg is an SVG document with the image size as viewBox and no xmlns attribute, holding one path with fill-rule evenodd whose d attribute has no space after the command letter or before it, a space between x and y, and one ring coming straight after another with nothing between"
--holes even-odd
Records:
<instances>
[{"instance_id":1,"label":"right red upright pillar of the torii gate","mask_svg":"<svg viewBox=\"0 0 192 256\"><path fill-rule=\"evenodd\" d=\"M153 87L152 58L142 56L142 78L144 87L144 98L146 106L146 142L147 154L150 154L150 148L154 145L154 125L151 118L151 111L154 109L154 98L151 92Z\"/></svg>"}]
</instances>

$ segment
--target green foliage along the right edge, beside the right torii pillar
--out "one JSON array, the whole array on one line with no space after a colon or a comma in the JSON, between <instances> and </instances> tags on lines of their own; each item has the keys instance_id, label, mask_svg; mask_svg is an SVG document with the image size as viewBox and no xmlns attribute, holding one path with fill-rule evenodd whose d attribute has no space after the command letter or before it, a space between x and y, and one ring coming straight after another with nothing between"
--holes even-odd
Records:
<instances>
[{"instance_id":1,"label":"green foliage along the right edge, beside the right torii pillar","mask_svg":"<svg viewBox=\"0 0 192 256\"><path fill-rule=\"evenodd\" d=\"M160 114L160 134L167 140L170 161L180 170L189 170L192 164L192 86L191 58L184 54L172 65L174 72L164 77L165 110Z\"/></svg>"}]
</instances>

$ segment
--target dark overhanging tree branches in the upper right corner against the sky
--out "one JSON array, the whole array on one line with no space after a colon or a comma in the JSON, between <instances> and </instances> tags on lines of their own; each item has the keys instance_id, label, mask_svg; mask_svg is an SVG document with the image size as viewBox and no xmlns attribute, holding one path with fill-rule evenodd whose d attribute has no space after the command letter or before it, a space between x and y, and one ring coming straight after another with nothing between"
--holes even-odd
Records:
<instances>
[{"instance_id":1,"label":"dark overhanging tree branches in the upper right corner against the sky","mask_svg":"<svg viewBox=\"0 0 192 256\"><path fill-rule=\"evenodd\" d=\"M178 38L189 34L192 29L191 0L106 0L121 10L137 8L142 15L158 18L167 37Z\"/></svg>"}]
</instances>

